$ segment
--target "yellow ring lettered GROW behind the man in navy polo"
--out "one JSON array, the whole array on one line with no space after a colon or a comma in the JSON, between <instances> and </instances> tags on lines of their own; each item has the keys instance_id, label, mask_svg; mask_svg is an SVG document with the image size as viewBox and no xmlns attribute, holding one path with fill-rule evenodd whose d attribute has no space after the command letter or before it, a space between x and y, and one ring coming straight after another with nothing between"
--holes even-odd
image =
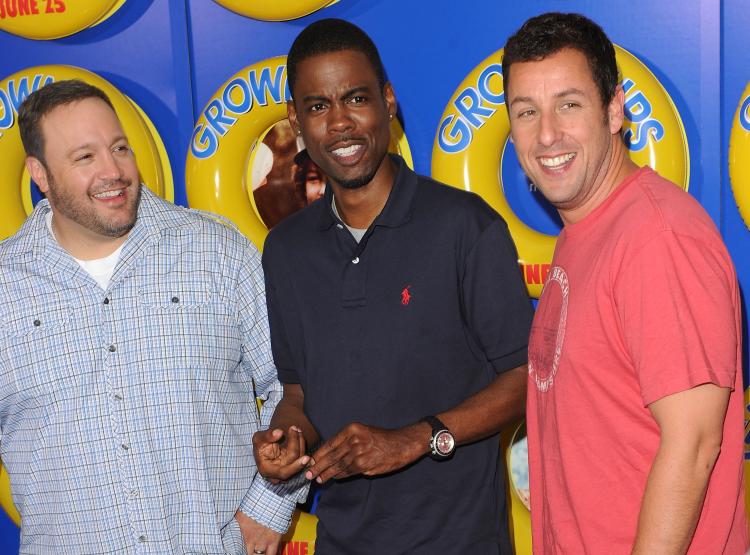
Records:
<instances>
[{"instance_id":1,"label":"yellow ring lettered GROW behind the man in navy polo","mask_svg":"<svg viewBox=\"0 0 750 555\"><path fill-rule=\"evenodd\" d=\"M188 204L229 218L258 248L268 229L253 199L252 175L265 150L261 139L287 117L286 56L245 67L230 77L201 112L187 155ZM394 118L391 152L412 167L406 136ZM260 179L260 178L258 178Z\"/></svg>"}]
</instances>

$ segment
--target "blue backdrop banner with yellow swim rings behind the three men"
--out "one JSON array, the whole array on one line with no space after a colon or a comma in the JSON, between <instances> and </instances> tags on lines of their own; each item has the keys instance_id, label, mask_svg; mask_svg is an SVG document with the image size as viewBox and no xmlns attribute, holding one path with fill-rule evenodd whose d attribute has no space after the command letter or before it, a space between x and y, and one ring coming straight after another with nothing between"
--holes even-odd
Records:
<instances>
[{"instance_id":1,"label":"blue backdrop banner with yellow swim rings behind the three men","mask_svg":"<svg viewBox=\"0 0 750 555\"><path fill-rule=\"evenodd\" d=\"M750 16L743 0L668 4L0 0L0 238L40 198L24 168L18 106L76 77L110 95L152 191L232 219L262 247L268 229L324 191L286 120L286 53L308 23L339 17L370 34L393 83L390 150L500 212L538 297L560 222L509 147L502 47L527 18L564 9L597 21L617 45L631 157L703 204L750 291ZM523 427L503 441L516 550L530 553ZM20 519L4 470L0 505L0 553L15 553ZM314 506L297 513L285 555L313 553Z\"/></svg>"}]
</instances>

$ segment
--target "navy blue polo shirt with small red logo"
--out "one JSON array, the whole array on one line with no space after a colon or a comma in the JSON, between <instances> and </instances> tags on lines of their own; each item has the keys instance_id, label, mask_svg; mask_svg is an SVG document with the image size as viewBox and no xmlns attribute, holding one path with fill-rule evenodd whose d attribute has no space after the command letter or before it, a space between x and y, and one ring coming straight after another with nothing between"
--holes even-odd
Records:
<instances>
[{"instance_id":1,"label":"navy blue polo shirt with small red logo","mask_svg":"<svg viewBox=\"0 0 750 555\"><path fill-rule=\"evenodd\" d=\"M357 243L332 191L271 231L263 253L279 378L299 383L321 438L399 428L526 363L532 308L503 219L479 196L398 172ZM427 442L428 438L425 438ZM331 482L316 552L505 553L499 441L387 476Z\"/></svg>"}]
</instances>

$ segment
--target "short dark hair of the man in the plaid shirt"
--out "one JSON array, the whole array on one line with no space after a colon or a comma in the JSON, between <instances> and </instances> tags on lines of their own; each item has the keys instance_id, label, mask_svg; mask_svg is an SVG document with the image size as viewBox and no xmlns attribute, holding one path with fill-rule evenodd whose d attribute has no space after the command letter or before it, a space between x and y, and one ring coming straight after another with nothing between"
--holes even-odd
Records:
<instances>
[{"instance_id":1,"label":"short dark hair of the man in the plaid shirt","mask_svg":"<svg viewBox=\"0 0 750 555\"><path fill-rule=\"evenodd\" d=\"M58 106L86 98L99 98L115 111L112 101L103 90L80 79L55 81L31 93L18 108L18 129L26 155L39 159L46 166L42 118Z\"/></svg>"}]
</instances>

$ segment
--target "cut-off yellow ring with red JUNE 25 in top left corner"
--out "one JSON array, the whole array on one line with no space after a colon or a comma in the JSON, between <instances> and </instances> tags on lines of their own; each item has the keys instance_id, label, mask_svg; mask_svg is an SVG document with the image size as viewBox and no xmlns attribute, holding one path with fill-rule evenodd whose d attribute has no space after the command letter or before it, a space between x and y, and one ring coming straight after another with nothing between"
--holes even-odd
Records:
<instances>
[{"instance_id":1,"label":"cut-off yellow ring with red JUNE 25 in top left corner","mask_svg":"<svg viewBox=\"0 0 750 555\"><path fill-rule=\"evenodd\" d=\"M28 39L67 37L97 25L125 0L0 1L0 29Z\"/></svg>"}]
</instances>

